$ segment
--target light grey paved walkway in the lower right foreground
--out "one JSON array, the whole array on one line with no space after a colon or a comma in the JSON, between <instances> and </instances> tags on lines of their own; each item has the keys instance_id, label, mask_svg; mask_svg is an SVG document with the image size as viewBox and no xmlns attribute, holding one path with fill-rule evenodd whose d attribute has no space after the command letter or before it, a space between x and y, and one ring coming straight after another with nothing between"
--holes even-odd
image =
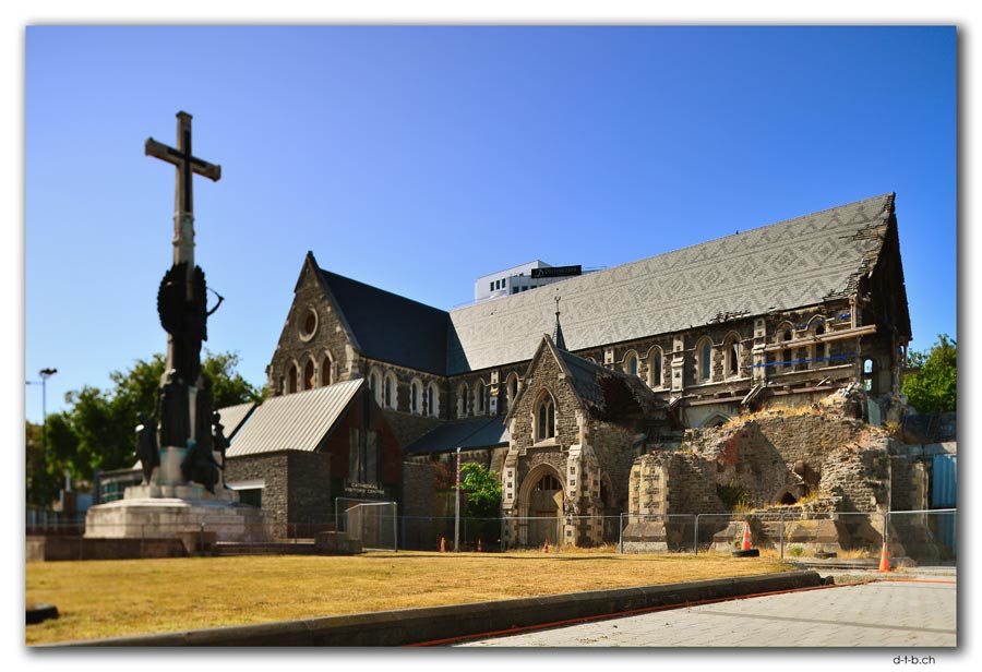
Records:
<instances>
[{"instance_id":1,"label":"light grey paved walkway in the lower right foreground","mask_svg":"<svg viewBox=\"0 0 982 672\"><path fill-rule=\"evenodd\" d=\"M955 574L897 573L889 577L906 580L746 598L460 646L956 646Z\"/></svg>"}]
</instances>

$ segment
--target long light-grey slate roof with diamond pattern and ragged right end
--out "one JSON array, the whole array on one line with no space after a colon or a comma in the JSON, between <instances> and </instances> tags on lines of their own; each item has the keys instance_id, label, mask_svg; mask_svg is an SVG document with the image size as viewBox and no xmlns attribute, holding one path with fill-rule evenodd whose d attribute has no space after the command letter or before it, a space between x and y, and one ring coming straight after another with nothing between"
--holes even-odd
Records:
<instances>
[{"instance_id":1,"label":"long light-grey slate roof with diamond pattern and ragged right end","mask_svg":"<svg viewBox=\"0 0 982 672\"><path fill-rule=\"evenodd\" d=\"M556 293L571 350L846 296L873 267L893 213L885 194L454 310L446 371L531 359Z\"/></svg>"}]
</instances>

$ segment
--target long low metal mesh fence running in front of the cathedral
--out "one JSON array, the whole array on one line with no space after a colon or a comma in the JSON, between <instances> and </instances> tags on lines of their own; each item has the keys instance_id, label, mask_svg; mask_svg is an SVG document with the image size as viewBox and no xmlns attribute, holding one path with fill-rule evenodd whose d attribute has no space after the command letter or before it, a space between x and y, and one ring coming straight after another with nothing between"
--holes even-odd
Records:
<instances>
[{"instance_id":1,"label":"long low metal mesh fence running in front of the cathedral","mask_svg":"<svg viewBox=\"0 0 982 672\"><path fill-rule=\"evenodd\" d=\"M726 514L619 516L542 516L474 518L462 516L399 516L393 502L349 502L339 507L336 523L166 523L84 525L79 521L28 520L27 537L117 539L142 544L144 551L169 553L161 544L183 552L213 552L223 544L253 544L262 552L289 552L285 545L324 551L362 549L502 552L523 549L563 552L570 548L607 549L620 553L730 553L750 535L754 549L777 557L878 559L884 542L893 559L919 565L955 564L958 559L957 509L890 513L803 512L801 509ZM167 541L170 539L171 541ZM183 547L175 545L182 540ZM196 540L196 541L195 541ZM51 541L51 543L56 543ZM104 544L105 545L105 544ZM168 547L168 548L170 548ZM83 549L84 551L84 549ZM84 556L83 551L76 551ZM92 551L89 551L91 553ZM298 549L298 552L300 550ZM180 553L178 553L180 554ZM139 555L136 555L139 556Z\"/></svg>"}]
</instances>

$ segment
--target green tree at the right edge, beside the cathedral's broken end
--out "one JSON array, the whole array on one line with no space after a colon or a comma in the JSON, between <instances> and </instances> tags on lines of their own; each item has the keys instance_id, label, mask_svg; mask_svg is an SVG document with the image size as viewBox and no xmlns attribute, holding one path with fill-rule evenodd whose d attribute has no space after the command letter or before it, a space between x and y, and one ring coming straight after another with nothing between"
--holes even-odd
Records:
<instances>
[{"instance_id":1,"label":"green tree at the right edge, beside the cathedral's broken end","mask_svg":"<svg viewBox=\"0 0 982 672\"><path fill-rule=\"evenodd\" d=\"M938 334L927 352L911 350L907 358L918 373L903 376L903 394L919 412L955 411L958 396L958 345Z\"/></svg>"}]
</instances>

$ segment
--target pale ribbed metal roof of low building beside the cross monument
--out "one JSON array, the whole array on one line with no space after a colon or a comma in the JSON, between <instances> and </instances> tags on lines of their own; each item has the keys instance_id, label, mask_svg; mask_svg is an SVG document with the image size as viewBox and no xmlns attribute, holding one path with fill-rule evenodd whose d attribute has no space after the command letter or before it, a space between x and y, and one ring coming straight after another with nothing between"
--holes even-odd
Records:
<instances>
[{"instance_id":1,"label":"pale ribbed metal roof of low building beside the cross monument","mask_svg":"<svg viewBox=\"0 0 982 672\"><path fill-rule=\"evenodd\" d=\"M358 379L266 399L232 437L226 455L315 451L363 383Z\"/></svg>"}]
</instances>

